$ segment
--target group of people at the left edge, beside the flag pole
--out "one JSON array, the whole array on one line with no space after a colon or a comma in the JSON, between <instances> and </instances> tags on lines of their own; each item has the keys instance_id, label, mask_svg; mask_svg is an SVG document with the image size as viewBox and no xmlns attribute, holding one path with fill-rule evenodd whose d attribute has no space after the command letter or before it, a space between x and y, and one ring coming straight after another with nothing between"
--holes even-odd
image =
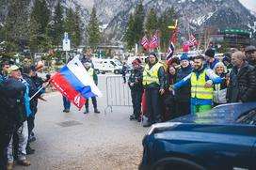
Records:
<instances>
[{"instance_id":1,"label":"group of people at the left edge, beside the flag pole","mask_svg":"<svg viewBox=\"0 0 256 170\"><path fill-rule=\"evenodd\" d=\"M48 80L42 80L37 67L18 67L3 61L0 74L0 169L11 170L16 158L28 166L27 154L33 154L29 144L36 140L33 129L38 100L44 100L44 88ZM49 77L48 77L49 78Z\"/></svg>"}]
</instances>

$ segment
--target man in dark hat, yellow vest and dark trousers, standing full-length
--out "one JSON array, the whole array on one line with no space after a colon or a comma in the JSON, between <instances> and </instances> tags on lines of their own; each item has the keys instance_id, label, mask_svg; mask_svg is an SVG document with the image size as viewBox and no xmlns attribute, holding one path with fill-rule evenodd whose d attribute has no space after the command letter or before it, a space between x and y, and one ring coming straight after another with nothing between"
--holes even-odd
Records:
<instances>
[{"instance_id":1,"label":"man in dark hat, yellow vest and dark trousers, standing full-length","mask_svg":"<svg viewBox=\"0 0 256 170\"><path fill-rule=\"evenodd\" d=\"M145 89L146 113L148 116L148 121L143 126L149 127L153 123L161 122L160 95L165 92L165 69L158 62L154 53L150 54L149 63L144 68L142 85Z\"/></svg>"}]
</instances>

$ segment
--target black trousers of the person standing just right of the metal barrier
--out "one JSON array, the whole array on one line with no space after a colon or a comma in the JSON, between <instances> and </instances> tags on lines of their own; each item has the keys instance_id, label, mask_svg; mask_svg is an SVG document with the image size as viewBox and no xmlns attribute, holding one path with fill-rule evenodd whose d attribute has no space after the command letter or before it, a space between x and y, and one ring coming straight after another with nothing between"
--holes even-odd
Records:
<instances>
[{"instance_id":1,"label":"black trousers of the person standing just right of the metal barrier","mask_svg":"<svg viewBox=\"0 0 256 170\"><path fill-rule=\"evenodd\" d=\"M131 89L134 116L136 116L136 117L140 116L140 114L141 114L142 94L143 94L143 89L142 90Z\"/></svg>"}]
</instances>

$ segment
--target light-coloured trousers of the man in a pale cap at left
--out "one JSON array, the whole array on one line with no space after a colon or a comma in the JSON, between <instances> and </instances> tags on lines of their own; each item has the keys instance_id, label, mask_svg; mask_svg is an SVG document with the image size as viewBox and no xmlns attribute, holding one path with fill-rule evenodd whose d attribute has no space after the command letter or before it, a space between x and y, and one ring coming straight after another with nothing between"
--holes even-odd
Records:
<instances>
[{"instance_id":1,"label":"light-coloured trousers of the man in a pale cap at left","mask_svg":"<svg viewBox=\"0 0 256 170\"><path fill-rule=\"evenodd\" d=\"M18 139L19 139L19 148L18 148L18 161L24 161L26 158L25 147L27 145L28 139L28 127L27 121L24 121L24 124L18 129ZM8 143L8 162L14 162L13 158L13 136L11 137Z\"/></svg>"}]
</instances>

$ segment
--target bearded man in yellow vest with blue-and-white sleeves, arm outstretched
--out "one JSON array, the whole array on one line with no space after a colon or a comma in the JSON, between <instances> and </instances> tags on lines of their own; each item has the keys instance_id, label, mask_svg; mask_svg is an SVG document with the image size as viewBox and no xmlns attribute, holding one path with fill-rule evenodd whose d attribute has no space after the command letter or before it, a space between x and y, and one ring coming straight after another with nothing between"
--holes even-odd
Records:
<instances>
[{"instance_id":1,"label":"bearded man in yellow vest with blue-and-white sleeves, arm outstretched","mask_svg":"<svg viewBox=\"0 0 256 170\"><path fill-rule=\"evenodd\" d=\"M191 84L191 114L212 109L213 84L220 84L221 78L204 65L204 56L197 55L194 58L194 70L180 82L171 85L171 89L178 89Z\"/></svg>"}]
</instances>

